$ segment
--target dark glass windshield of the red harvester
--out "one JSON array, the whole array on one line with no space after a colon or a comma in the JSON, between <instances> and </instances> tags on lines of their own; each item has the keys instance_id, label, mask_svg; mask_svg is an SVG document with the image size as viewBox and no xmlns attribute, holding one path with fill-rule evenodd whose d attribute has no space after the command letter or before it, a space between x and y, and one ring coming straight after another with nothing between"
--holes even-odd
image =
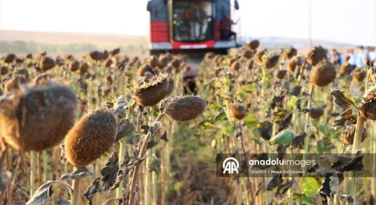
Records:
<instances>
[{"instance_id":1,"label":"dark glass windshield of the red harvester","mask_svg":"<svg viewBox=\"0 0 376 205\"><path fill-rule=\"evenodd\" d=\"M172 4L174 41L206 41L213 38L214 3L211 0L175 0Z\"/></svg>"}]
</instances>

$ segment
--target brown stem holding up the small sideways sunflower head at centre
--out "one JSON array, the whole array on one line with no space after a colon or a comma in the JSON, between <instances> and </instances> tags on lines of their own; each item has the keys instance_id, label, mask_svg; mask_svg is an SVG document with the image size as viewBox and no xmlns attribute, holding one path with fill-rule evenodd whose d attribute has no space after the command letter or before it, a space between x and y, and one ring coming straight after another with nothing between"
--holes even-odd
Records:
<instances>
[{"instance_id":1,"label":"brown stem holding up the small sideways sunflower head at centre","mask_svg":"<svg viewBox=\"0 0 376 205\"><path fill-rule=\"evenodd\" d=\"M159 114L159 116L157 117L157 119L155 119L155 121L154 121L153 124L155 125L155 124L159 123L162 120L163 116L164 116L164 113L162 112L161 114ZM146 136L141 139L142 140L142 144L141 144L141 149L140 149L140 153L139 153L139 158L142 158L143 155L145 154L145 152L146 152L146 146L147 146L147 143L150 140L150 137L151 137L151 132L148 131L147 134L146 134ZM135 166L135 170L133 171L132 182L131 182L131 185L130 185L129 205L133 205L135 203L136 184L138 182L140 165L141 164L136 165ZM126 192L124 192L123 198L125 198L125 194L126 194Z\"/></svg>"}]
</instances>

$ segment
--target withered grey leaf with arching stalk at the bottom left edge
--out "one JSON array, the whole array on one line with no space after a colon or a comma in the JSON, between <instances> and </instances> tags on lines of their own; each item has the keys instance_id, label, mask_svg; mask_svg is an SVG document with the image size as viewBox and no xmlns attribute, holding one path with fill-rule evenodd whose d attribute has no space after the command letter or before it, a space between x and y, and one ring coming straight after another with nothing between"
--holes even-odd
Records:
<instances>
[{"instance_id":1,"label":"withered grey leaf with arching stalk at the bottom left edge","mask_svg":"<svg viewBox=\"0 0 376 205\"><path fill-rule=\"evenodd\" d=\"M52 184L54 183L61 183L64 184L70 191L73 191L73 188L64 182L61 181L48 181L46 184L41 185L30 198L29 201L26 202L26 205L41 205L47 201L51 200L51 196L53 194Z\"/></svg>"}]
</instances>

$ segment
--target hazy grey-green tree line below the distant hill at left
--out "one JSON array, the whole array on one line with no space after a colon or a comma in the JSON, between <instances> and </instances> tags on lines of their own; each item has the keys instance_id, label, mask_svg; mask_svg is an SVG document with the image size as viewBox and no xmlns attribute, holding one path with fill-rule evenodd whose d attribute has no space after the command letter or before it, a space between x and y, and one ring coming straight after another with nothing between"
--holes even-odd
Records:
<instances>
[{"instance_id":1,"label":"hazy grey-green tree line below the distant hill at left","mask_svg":"<svg viewBox=\"0 0 376 205\"><path fill-rule=\"evenodd\" d=\"M140 51L138 45L117 46L123 52ZM66 45L60 44L43 44L35 41L0 41L0 53L85 53L94 50L114 49L113 47L99 47L94 43L71 43Z\"/></svg>"}]
</instances>

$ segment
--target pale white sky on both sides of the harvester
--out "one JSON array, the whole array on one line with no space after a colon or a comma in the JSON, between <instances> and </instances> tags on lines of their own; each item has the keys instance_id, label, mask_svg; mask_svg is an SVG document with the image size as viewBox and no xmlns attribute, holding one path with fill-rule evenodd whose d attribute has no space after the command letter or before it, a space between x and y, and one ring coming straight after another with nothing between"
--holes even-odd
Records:
<instances>
[{"instance_id":1,"label":"pale white sky on both sides of the harvester","mask_svg":"<svg viewBox=\"0 0 376 205\"><path fill-rule=\"evenodd\" d=\"M233 0L232 0L233 1ZM309 38L309 0L238 0L239 36ZM0 30L149 35L147 0L0 0ZM311 36L376 45L376 0L311 0Z\"/></svg>"}]
</instances>

